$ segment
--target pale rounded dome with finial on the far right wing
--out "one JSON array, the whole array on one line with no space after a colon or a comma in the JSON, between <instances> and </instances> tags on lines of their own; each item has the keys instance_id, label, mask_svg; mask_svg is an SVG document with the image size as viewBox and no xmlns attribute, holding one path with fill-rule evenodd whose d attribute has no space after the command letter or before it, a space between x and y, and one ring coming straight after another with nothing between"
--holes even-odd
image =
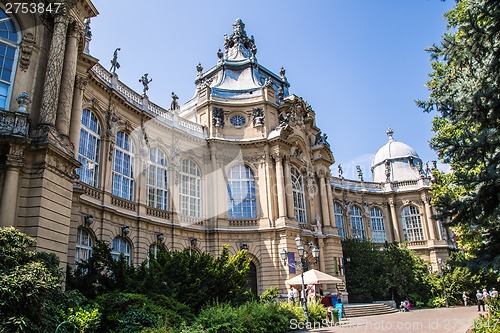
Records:
<instances>
[{"instance_id":1,"label":"pale rounded dome with finial on the far right wing","mask_svg":"<svg viewBox=\"0 0 500 333\"><path fill-rule=\"evenodd\" d=\"M375 154L372 162L373 182L417 180L422 174L422 160L415 149L394 140L393 130L387 129L389 140Z\"/></svg>"}]
</instances>

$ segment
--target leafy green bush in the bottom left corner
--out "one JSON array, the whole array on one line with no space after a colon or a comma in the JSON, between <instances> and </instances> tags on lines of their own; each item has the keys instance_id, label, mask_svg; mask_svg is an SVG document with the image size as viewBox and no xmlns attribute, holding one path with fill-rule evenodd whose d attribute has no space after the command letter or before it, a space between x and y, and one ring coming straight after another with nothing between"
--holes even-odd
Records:
<instances>
[{"instance_id":1,"label":"leafy green bush in the bottom left corner","mask_svg":"<svg viewBox=\"0 0 500 333\"><path fill-rule=\"evenodd\" d=\"M30 250L35 240L13 227L0 228L0 331L45 332L52 300L61 293L55 255Z\"/></svg>"}]
</instances>

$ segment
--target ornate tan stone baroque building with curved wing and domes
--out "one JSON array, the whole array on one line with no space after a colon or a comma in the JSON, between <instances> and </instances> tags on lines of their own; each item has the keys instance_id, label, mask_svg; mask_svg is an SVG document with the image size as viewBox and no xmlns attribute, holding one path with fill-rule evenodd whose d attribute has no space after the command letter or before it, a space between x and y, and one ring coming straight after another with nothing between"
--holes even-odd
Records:
<instances>
[{"instance_id":1,"label":"ornate tan stone baroque building with curved wing and domes","mask_svg":"<svg viewBox=\"0 0 500 333\"><path fill-rule=\"evenodd\" d=\"M159 247L217 255L228 244L248 251L259 293L294 274L280 251L293 260L298 235L320 249L316 268L341 278L342 237L447 256L430 179L402 171L421 168L418 155L396 152L404 144L391 134L374 183L332 177L315 112L289 92L283 68L257 62L241 20L216 65L197 66L194 97L179 105L172 93L163 108L147 96L147 74L142 93L119 80L119 49L110 70L90 55L98 12L90 0L68 3L17 15L0 2L1 226L62 265L91 256L96 240L135 264Z\"/></svg>"}]
</instances>

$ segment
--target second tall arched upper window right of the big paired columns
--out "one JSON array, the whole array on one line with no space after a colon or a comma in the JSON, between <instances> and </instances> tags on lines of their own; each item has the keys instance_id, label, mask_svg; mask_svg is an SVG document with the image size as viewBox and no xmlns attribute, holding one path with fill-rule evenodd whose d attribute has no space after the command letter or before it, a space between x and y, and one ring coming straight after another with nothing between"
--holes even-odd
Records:
<instances>
[{"instance_id":1,"label":"second tall arched upper window right of the big paired columns","mask_svg":"<svg viewBox=\"0 0 500 333\"><path fill-rule=\"evenodd\" d=\"M115 158L113 162L113 195L134 199L134 156L130 136L116 133Z\"/></svg>"}]
</instances>

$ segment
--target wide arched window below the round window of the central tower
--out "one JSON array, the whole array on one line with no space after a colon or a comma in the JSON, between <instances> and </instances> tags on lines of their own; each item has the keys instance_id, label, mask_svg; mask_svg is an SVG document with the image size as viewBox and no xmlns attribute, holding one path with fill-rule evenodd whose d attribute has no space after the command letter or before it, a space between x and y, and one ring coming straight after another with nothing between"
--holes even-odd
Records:
<instances>
[{"instance_id":1,"label":"wide arched window below the round window of the central tower","mask_svg":"<svg viewBox=\"0 0 500 333\"><path fill-rule=\"evenodd\" d=\"M228 217L231 219L253 219L257 217L255 179L252 170L238 165L227 175Z\"/></svg>"}]
</instances>

